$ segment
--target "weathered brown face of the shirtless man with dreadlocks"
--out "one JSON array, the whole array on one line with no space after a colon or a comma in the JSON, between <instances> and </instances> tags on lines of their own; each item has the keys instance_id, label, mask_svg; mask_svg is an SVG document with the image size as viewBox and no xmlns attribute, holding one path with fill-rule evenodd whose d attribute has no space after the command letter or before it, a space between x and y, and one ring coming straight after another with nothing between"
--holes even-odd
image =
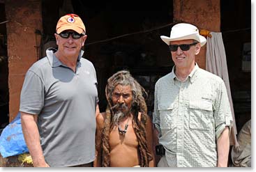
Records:
<instances>
[{"instance_id":1,"label":"weathered brown face of the shirtless man with dreadlocks","mask_svg":"<svg viewBox=\"0 0 256 172\"><path fill-rule=\"evenodd\" d=\"M133 93L130 86L117 85L112 93L112 102L114 105L119 105L115 108L116 111L121 111L124 114L130 111L133 102Z\"/></svg>"}]
</instances>

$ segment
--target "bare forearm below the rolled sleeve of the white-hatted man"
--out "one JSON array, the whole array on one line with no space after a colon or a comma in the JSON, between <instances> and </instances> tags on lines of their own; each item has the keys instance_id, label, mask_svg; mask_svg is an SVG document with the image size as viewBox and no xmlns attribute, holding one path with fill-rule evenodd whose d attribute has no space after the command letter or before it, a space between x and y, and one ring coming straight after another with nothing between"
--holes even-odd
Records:
<instances>
[{"instance_id":1,"label":"bare forearm below the rolled sleeve of the white-hatted man","mask_svg":"<svg viewBox=\"0 0 256 172\"><path fill-rule=\"evenodd\" d=\"M227 167L229 155L229 127L225 127L217 141L218 167Z\"/></svg>"}]
</instances>

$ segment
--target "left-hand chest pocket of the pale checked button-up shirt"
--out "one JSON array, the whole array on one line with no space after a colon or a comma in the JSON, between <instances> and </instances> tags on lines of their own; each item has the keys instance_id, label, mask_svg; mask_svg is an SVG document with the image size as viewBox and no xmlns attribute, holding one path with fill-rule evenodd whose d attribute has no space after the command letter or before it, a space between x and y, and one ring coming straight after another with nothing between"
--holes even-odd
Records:
<instances>
[{"instance_id":1,"label":"left-hand chest pocket of the pale checked button-up shirt","mask_svg":"<svg viewBox=\"0 0 256 172\"><path fill-rule=\"evenodd\" d=\"M170 130L174 124L174 104L159 105L158 111L160 115L160 129Z\"/></svg>"}]
</instances>

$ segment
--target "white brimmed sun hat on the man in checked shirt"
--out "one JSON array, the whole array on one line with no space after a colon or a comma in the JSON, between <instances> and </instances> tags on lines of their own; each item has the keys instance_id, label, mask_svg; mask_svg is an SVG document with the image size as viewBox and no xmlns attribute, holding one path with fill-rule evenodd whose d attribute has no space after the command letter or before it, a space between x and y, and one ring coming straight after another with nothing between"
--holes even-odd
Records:
<instances>
[{"instance_id":1,"label":"white brimmed sun hat on the man in checked shirt","mask_svg":"<svg viewBox=\"0 0 256 172\"><path fill-rule=\"evenodd\" d=\"M206 38L204 38L204 36L200 36L197 27L188 23L175 24L174 26L172 26L170 37L160 36L160 38L167 45L170 45L170 41L190 39L200 42L201 47L204 46L206 43Z\"/></svg>"}]
</instances>

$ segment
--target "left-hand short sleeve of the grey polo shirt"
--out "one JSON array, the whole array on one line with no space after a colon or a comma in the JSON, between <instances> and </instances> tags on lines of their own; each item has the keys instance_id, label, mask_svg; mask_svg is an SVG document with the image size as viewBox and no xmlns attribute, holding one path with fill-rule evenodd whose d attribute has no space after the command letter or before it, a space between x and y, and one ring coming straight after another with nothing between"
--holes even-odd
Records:
<instances>
[{"instance_id":1,"label":"left-hand short sleeve of the grey polo shirt","mask_svg":"<svg viewBox=\"0 0 256 172\"><path fill-rule=\"evenodd\" d=\"M27 114L40 114L44 106L45 94L42 79L29 70L25 76L20 95L20 111Z\"/></svg>"}]
</instances>

